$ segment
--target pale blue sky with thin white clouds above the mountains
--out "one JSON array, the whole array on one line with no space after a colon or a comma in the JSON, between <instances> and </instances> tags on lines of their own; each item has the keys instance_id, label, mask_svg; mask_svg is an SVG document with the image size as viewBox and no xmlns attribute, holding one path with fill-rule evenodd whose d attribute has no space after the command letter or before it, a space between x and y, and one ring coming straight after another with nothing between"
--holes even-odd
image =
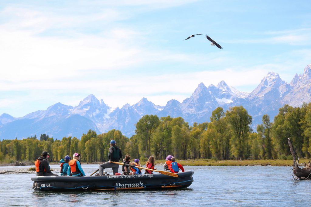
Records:
<instances>
[{"instance_id":1,"label":"pale blue sky with thin white clouds above the mountains","mask_svg":"<svg viewBox=\"0 0 311 207\"><path fill-rule=\"evenodd\" d=\"M1 1L0 114L77 106L89 94L111 107L142 97L165 105L222 80L251 92L270 71L290 82L311 63L310 7L307 0Z\"/></svg>"}]
</instances>

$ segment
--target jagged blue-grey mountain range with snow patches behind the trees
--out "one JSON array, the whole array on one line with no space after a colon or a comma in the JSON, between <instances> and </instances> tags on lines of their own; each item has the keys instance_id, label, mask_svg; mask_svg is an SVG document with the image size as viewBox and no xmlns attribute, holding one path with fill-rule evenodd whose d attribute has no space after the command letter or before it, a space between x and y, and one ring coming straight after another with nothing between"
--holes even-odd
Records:
<instances>
[{"instance_id":1,"label":"jagged blue-grey mountain range with snow patches behind the trees","mask_svg":"<svg viewBox=\"0 0 311 207\"><path fill-rule=\"evenodd\" d=\"M80 101L76 107L61 103L46 110L29 113L24 117L0 116L0 139L18 139L48 134L61 139L64 136L80 138L89 129L104 133L111 129L122 131L125 136L135 134L135 124L146 114L158 117L183 117L192 125L194 122L209 122L211 113L217 107L224 110L243 106L253 117L253 128L262 123L262 116L268 114L273 121L284 104L293 107L311 101L311 65L303 74L295 74L290 83L283 81L277 73L269 72L251 92L240 92L221 81L217 86L206 87L200 83L193 94L179 102L169 100L165 106L158 106L142 98L134 105L111 108L93 94Z\"/></svg>"}]
</instances>

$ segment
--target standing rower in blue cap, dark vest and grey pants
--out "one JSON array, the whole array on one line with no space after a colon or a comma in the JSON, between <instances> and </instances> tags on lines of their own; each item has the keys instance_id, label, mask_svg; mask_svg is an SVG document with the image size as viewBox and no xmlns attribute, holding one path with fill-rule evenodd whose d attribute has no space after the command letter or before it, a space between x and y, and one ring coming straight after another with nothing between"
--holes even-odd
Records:
<instances>
[{"instance_id":1,"label":"standing rower in blue cap, dark vest and grey pants","mask_svg":"<svg viewBox=\"0 0 311 207\"><path fill-rule=\"evenodd\" d=\"M119 165L111 162L120 162L120 158L122 158L122 152L120 148L116 146L116 141L110 141L110 148L108 153L108 162L105 162L99 166L98 175L104 175L104 169L112 168L112 173L115 175L119 171Z\"/></svg>"}]
</instances>

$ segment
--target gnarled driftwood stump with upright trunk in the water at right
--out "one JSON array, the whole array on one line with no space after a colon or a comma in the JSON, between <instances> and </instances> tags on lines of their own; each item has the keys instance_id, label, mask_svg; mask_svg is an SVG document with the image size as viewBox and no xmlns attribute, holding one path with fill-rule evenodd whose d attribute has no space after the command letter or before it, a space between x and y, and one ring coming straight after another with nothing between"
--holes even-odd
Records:
<instances>
[{"instance_id":1,"label":"gnarled driftwood stump with upright trunk in the water at right","mask_svg":"<svg viewBox=\"0 0 311 207\"><path fill-rule=\"evenodd\" d=\"M299 168L299 157L296 162L296 152L295 149L293 148L293 145L290 142L290 138L287 138L288 145L290 146L290 153L293 155L293 173L298 179L306 180L306 179L311 179L311 163L304 163L304 168Z\"/></svg>"}]
</instances>

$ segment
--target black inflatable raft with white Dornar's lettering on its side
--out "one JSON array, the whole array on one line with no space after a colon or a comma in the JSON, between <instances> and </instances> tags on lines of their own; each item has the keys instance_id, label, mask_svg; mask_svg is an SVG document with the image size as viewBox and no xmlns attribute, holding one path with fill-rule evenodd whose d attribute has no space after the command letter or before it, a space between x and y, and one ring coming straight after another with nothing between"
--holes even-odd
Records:
<instances>
[{"instance_id":1,"label":"black inflatable raft with white Dornar's lettering on its side","mask_svg":"<svg viewBox=\"0 0 311 207\"><path fill-rule=\"evenodd\" d=\"M137 189L181 189L193 182L193 170L178 173L178 177L163 174L106 176L38 176L32 177L34 191L117 191Z\"/></svg>"}]
</instances>

